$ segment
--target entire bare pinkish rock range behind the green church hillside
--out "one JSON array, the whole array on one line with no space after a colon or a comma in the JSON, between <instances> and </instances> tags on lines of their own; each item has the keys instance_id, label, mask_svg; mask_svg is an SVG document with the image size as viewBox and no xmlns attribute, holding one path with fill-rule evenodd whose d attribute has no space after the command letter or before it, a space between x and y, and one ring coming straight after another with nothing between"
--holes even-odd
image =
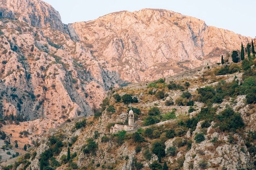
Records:
<instances>
[{"instance_id":1,"label":"entire bare pinkish rock range behind the green church hillside","mask_svg":"<svg viewBox=\"0 0 256 170\"><path fill-rule=\"evenodd\" d=\"M206 58L214 63L248 42L157 9L64 25L41 0L4 0L0 17L0 114L25 120L92 115L109 87L174 75Z\"/></svg>"}]
</instances>

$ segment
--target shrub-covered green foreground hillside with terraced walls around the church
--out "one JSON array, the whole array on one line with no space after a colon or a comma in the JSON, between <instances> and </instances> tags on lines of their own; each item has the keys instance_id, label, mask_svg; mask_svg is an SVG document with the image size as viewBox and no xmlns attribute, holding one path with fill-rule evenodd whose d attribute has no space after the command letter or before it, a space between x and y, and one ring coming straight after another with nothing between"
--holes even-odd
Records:
<instances>
[{"instance_id":1,"label":"shrub-covered green foreground hillside with terraced walls around the church","mask_svg":"<svg viewBox=\"0 0 256 170\"><path fill-rule=\"evenodd\" d=\"M9 169L255 169L253 64L246 58L202 76L113 89L94 117L49 130ZM128 124L131 107L135 130L110 133Z\"/></svg>"}]
</instances>

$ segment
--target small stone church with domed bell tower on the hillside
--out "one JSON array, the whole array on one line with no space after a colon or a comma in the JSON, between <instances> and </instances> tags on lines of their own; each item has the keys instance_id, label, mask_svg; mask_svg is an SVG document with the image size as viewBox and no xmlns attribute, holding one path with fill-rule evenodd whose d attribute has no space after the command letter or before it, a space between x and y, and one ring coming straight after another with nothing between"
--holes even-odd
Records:
<instances>
[{"instance_id":1,"label":"small stone church with domed bell tower on the hillside","mask_svg":"<svg viewBox=\"0 0 256 170\"><path fill-rule=\"evenodd\" d=\"M125 130L125 131L130 131L130 130L134 130L134 114L131 110L129 111L129 115L128 115L128 125L119 125L119 124L115 124L115 126L112 126L110 128L110 133L117 133L118 131L121 130Z\"/></svg>"}]
</instances>

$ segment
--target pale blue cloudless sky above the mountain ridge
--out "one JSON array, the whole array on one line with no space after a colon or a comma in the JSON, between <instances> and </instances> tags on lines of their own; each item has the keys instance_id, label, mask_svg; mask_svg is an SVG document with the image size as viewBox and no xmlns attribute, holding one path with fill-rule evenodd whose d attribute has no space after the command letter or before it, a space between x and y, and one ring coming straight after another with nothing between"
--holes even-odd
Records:
<instances>
[{"instance_id":1,"label":"pale blue cloudless sky above the mountain ridge","mask_svg":"<svg viewBox=\"0 0 256 170\"><path fill-rule=\"evenodd\" d=\"M256 0L44 0L65 24L95 20L117 11L167 9L204 20L208 26L256 37Z\"/></svg>"}]
</instances>

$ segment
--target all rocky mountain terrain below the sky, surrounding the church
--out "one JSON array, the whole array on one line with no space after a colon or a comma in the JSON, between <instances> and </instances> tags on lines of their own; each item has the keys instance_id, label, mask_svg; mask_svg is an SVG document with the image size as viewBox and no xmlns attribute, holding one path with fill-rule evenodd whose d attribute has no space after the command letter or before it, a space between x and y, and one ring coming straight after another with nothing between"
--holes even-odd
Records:
<instances>
[{"instance_id":1,"label":"all rocky mountain terrain below the sky, surrounding the church","mask_svg":"<svg viewBox=\"0 0 256 170\"><path fill-rule=\"evenodd\" d=\"M255 168L256 63L231 61L251 40L163 9L66 25L41 0L2 0L0 155L25 154L2 166ZM110 133L130 107L138 130Z\"/></svg>"}]
</instances>

